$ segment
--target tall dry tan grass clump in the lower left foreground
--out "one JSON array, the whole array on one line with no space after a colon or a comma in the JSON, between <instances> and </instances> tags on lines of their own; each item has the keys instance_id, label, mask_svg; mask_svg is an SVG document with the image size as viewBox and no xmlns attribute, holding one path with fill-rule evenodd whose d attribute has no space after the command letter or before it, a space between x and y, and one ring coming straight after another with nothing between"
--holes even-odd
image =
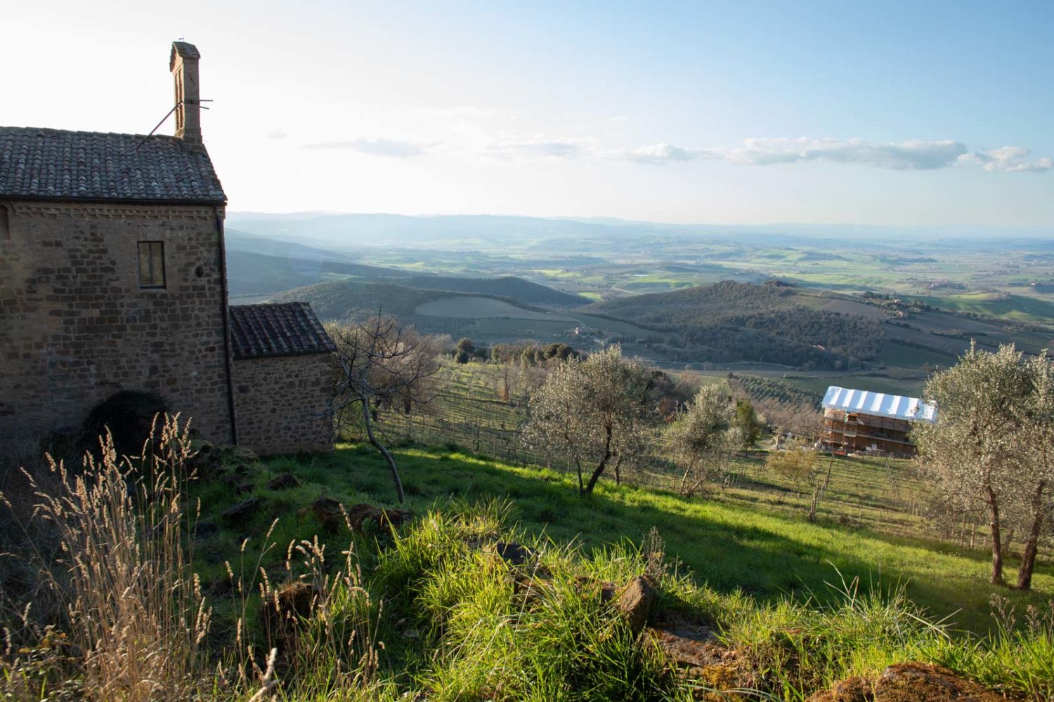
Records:
<instances>
[{"instance_id":1,"label":"tall dry tan grass clump in the lower left foreground","mask_svg":"<svg viewBox=\"0 0 1054 702\"><path fill-rule=\"evenodd\" d=\"M191 699L206 680L211 609L184 538L194 519L183 489L188 426L159 418L140 458L118 457L109 435L100 449L76 472L48 458L46 488L23 472L33 519L57 535L57 558L31 558L62 604L65 660L79 664L89 700Z\"/></svg>"}]
</instances>

